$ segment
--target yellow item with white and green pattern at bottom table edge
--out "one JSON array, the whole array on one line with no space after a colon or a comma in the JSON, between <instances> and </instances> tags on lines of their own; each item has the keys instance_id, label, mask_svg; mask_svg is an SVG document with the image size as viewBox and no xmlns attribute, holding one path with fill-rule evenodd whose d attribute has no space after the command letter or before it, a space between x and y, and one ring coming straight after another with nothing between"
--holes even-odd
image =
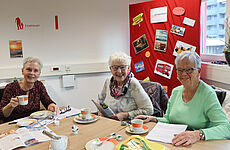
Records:
<instances>
[{"instance_id":1,"label":"yellow item with white and green pattern at bottom table edge","mask_svg":"<svg viewBox=\"0 0 230 150\"><path fill-rule=\"evenodd\" d=\"M116 145L115 150L169 150L164 145L151 142L139 135L133 135Z\"/></svg>"}]
</instances>

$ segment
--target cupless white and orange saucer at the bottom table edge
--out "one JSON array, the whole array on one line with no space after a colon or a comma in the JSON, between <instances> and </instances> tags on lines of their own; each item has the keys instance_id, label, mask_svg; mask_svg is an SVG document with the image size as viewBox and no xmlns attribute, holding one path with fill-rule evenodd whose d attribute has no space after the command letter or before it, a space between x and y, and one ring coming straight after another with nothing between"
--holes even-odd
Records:
<instances>
[{"instance_id":1,"label":"cupless white and orange saucer at the bottom table edge","mask_svg":"<svg viewBox=\"0 0 230 150\"><path fill-rule=\"evenodd\" d=\"M100 141L105 141L107 138L98 138ZM97 146L94 144L96 139L90 140L86 143L85 148L86 150L114 150L115 146L118 144L116 139L110 139L105 141L102 145Z\"/></svg>"}]
</instances>

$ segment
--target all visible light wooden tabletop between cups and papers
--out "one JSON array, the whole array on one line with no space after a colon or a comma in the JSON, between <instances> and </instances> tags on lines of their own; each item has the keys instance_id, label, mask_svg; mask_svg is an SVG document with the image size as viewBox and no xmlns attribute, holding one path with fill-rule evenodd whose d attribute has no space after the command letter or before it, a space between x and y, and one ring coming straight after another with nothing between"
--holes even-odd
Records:
<instances>
[{"instance_id":1,"label":"all visible light wooden tabletop between cups and papers","mask_svg":"<svg viewBox=\"0 0 230 150\"><path fill-rule=\"evenodd\" d=\"M104 117L99 117L94 123L91 124L77 124L73 121L74 117L65 118L60 120L60 126L55 126L54 124L48 125L48 127L53 130L57 135L66 135L68 136L68 150L84 150L85 144L98 137L109 137L110 133L116 132L117 134L122 135L123 140L130 137L131 134L125 131L125 127L121 126L121 123L116 120L107 119ZM75 124L79 127L78 135L72 134L71 127ZM149 131L156 125L153 122L145 124ZM17 126L8 125L7 123L0 125L0 132L16 129ZM143 134L141 136L145 137L147 135ZM211 140L211 141L199 141L195 144L192 144L188 147L175 147L171 144L160 143L165 145L171 150L227 150L230 149L230 141L229 140ZM48 149L49 142L40 143L37 145L33 145L28 148L28 150L46 150Z\"/></svg>"}]
</instances>

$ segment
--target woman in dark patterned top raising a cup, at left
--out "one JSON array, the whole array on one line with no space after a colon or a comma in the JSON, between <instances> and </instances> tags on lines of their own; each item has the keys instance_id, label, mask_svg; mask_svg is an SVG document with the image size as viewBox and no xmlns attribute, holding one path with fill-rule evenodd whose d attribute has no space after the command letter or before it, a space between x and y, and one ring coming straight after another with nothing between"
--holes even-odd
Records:
<instances>
[{"instance_id":1,"label":"woman in dark patterned top raising a cup, at left","mask_svg":"<svg viewBox=\"0 0 230 150\"><path fill-rule=\"evenodd\" d=\"M40 109L40 101L46 109L59 113L58 106L49 97L45 86L38 81L42 63L38 58L24 59L22 74L24 79L6 85L0 103L0 120L3 122L29 116ZM19 105L17 96L28 95L28 104Z\"/></svg>"}]
</instances>

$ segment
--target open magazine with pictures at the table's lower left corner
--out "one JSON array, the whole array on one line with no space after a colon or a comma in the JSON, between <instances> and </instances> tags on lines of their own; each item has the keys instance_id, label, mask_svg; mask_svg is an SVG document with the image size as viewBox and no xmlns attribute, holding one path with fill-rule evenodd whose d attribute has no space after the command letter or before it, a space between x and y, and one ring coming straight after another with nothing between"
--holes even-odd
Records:
<instances>
[{"instance_id":1,"label":"open magazine with pictures at the table's lower left corner","mask_svg":"<svg viewBox=\"0 0 230 150\"><path fill-rule=\"evenodd\" d=\"M16 132L11 132L0 139L0 150L28 147L48 140L50 138L42 134L42 131L29 131L27 128L19 128Z\"/></svg>"}]
</instances>

